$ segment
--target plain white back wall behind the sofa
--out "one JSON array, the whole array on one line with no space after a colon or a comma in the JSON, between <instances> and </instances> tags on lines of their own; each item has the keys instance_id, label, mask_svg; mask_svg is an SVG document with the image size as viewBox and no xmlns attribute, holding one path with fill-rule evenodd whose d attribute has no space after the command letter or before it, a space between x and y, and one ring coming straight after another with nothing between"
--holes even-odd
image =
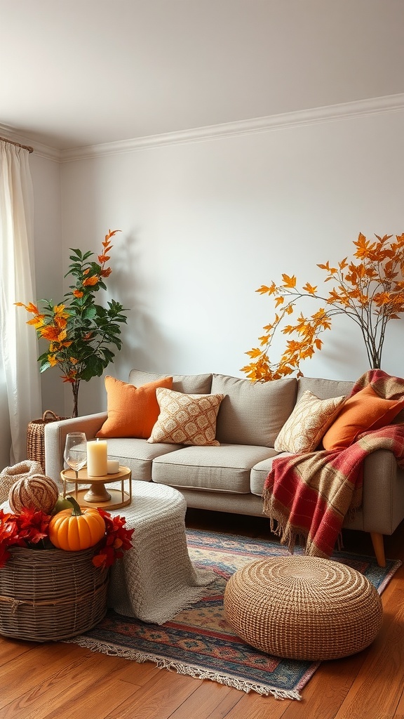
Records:
<instances>
[{"instance_id":1,"label":"plain white back wall behind the sofa","mask_svg":"<svg viewBox=\"0 0 404 719\"><path fill-rule=\"evenodd\" d=\"M404 231L403 119L384 111L64 162L64 266L69 247L98 253L109 228L122 231L108 285L130 312L107 373L244 377L244 352L273 317L254 290L283 272L321 283L317 263L352 254L359 232ZM335 321L306 375L354 380L369 368L351 324ZM403 321L390 323L386 372L403 375L403 338ZM82 385L79 413L105 406L102 380Z\"/></svg>"}]
</instances>

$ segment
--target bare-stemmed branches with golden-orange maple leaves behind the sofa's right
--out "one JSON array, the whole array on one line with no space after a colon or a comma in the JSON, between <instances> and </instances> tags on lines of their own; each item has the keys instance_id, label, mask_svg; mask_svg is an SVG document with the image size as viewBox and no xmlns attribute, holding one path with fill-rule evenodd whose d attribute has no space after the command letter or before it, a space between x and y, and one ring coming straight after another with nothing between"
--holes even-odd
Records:
<instances>
[{"instance_id":1,"label":"bare-stemmed branches with golden-orange maple leaves behind the sofa's right","mask_svg":"<svg viewBox=\"0 0 404 719\"><path fill-rule=\"evenodd\" d=\"M283 283L272 282L256 291L275 301L275 318L263 328L260 347L248 352L252 360L242 367L249 379L267 382L297 373L300 362L313 357L321 349L321 333L331 329L332 318L343 314L359 327L371 369L380 369L387 322L400 319L404 313L404 234L375 235L370 241L361 233L354 241L354 259L332 267L327 260L317 265L324 270L324 282L332 283L328 294L318 292L316 285L306 283L299 288L295 275L283 274ZM391 241L390 241L391 240ZM312 298L321 306L311 315L300 313L293 323L288 321L302 298ZM283 326L285 324L285 326ZM270 347L277 332L290 336L279 362L272 362Z\"/></svg>"}]
</instances>

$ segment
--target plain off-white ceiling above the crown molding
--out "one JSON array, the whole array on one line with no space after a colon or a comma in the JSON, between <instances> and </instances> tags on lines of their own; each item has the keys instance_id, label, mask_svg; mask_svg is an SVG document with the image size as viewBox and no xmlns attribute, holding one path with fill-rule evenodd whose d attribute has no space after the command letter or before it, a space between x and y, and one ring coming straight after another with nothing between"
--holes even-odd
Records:
<instances>
[{"instance_id":1,"label":"plain off-white ceiling above the crown molding","mask_svg":"<svg viewBox=\"0 0 404 719\"><path fill-rule=\"evenodd\" d=\"M0 129L58 150L404 92L404 0L0 0Z\"/></svg>"}]
</instances>

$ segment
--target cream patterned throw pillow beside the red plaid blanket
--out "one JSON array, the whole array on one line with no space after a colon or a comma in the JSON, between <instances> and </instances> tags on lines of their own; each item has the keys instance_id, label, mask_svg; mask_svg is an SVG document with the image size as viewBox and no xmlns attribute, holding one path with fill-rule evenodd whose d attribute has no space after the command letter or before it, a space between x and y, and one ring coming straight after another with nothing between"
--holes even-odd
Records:
<instances>
[{"instance_id":1,"label":"cream patterned throw pillow beside the red plaid blanket","mask_svg":"<svg viewBox=\"0 0 404 719\"><path fill-rule=\"evenodd\" d=\"M345 397L321 400L310 390L300 400L275 439L277 452L314 452L333 423Z\"/></svg>"}]
</instances>

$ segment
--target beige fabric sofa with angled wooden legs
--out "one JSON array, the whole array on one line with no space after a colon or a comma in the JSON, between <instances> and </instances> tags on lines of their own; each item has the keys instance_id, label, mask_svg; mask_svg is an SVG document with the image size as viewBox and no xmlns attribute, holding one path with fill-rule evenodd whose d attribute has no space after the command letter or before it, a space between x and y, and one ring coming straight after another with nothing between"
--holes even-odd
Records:
<instances>
[{"instance_id":1,"label":"beige fabric sofa with angled wooden legs","mask_svg":"<svg viewBox=\"0 0 404 719\"><path fill-rule=\"evenodd\" d=\"M166 375L132 370L129 383L144 385ZM222 393L216 423L220 446L149 444L146 439L108 439L111 459L130 467L132 480L160 482L183 493L189 507L262 516L262 489L277 434L305 390L318 398L348 395L352 382L294 377L251 383L228 375L174 375L173 390ZM106 420L97 413L45 426L45 471L60 484L65 435L84 431L93 439ZM378 450L364 462L362 508L344 527L370 532L377 561L385 563L383 535L404 518L404 472L392 452Z\"/></svg>"}]
</instances>

